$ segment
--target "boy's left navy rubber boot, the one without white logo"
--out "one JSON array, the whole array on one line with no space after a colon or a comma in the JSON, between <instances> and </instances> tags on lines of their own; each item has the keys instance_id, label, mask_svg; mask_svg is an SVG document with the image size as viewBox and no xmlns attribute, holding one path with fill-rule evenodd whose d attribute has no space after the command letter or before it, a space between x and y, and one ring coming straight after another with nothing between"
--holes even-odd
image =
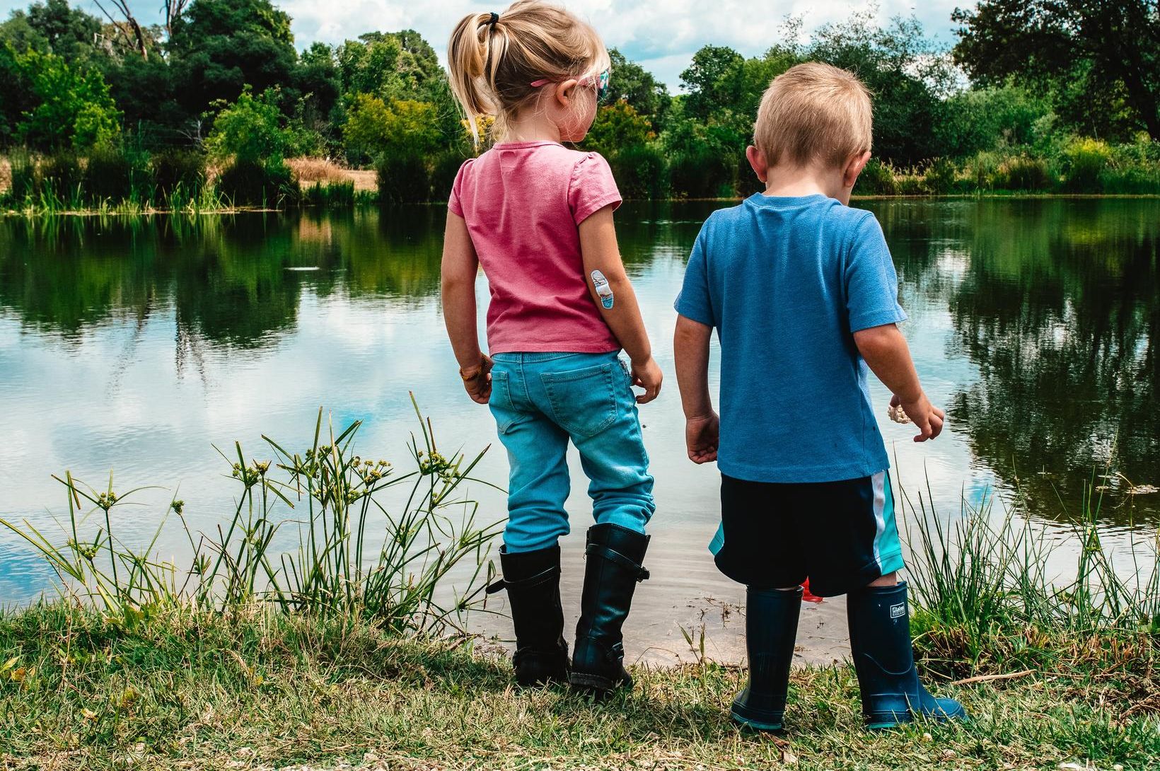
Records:
<instances>
[{"instance_id":1,"label":"boy's left navy rubber boot, the one without white logo","mask_svg":"<svg viewBox=\"0 0 1160 771\"><path fill-rule=\"evenodd\" d=\"M730 717L742 726L757 730L782 728L802 594L802 587L796 591L749 587L745 592L749 682L730 710Z\"/></svg>"}]
</instances>

